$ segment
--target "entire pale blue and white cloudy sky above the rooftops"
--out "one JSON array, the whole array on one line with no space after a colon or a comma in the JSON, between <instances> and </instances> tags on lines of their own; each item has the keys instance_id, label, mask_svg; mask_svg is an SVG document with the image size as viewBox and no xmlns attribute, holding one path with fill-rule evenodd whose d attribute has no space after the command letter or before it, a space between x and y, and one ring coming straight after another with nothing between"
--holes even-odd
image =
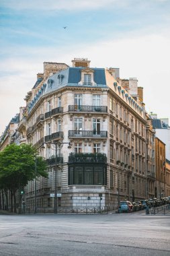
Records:
<instances>
[{"instance_id":1,"label":"entire pale blue and white cloudy sky above the rooftops","mask_svg":"<svg viewBox=\"0 0 170 256\"><path fill-rule=\"evenodd\" d=\"M43 63L74 58L136 77L146 111L170 119L170 0L0 0L0 135Z\"/></svg>"}]
</instances>

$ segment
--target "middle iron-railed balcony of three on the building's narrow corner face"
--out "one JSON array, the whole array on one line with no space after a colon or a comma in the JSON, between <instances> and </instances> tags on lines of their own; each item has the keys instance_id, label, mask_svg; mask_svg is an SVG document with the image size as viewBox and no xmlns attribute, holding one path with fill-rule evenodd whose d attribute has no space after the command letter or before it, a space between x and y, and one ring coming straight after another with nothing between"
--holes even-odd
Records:
<instances>
[{"instance_id":1,"label":"middle iron-railed balcony of three on the building's narrow corner face","mask_svg":"<svg viewBox=\"0 0 170 256\"><path fill-rule=\"evenodd\" d=\"M78 130L69 130L69 137L99 137L99 138L105 138L108 137L108 131L78 131Z\"/></svg>"}]
</instances>

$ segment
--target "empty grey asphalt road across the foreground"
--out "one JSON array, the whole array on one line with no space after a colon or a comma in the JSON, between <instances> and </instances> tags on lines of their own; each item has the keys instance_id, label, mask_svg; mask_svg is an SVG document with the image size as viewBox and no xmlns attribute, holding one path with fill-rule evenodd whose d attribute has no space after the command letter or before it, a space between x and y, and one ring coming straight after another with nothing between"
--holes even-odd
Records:
<instances>
[{"instance_id":1,"label":"empty grey asphalt road across the foreground","mask_svg":"<svg viewBox=\"0 0 170 256\"><path fill-rule=\"evenodd\" d=\"M170 216L0 216L0 255L170 255Z\"/></svg>"}]
</instances>

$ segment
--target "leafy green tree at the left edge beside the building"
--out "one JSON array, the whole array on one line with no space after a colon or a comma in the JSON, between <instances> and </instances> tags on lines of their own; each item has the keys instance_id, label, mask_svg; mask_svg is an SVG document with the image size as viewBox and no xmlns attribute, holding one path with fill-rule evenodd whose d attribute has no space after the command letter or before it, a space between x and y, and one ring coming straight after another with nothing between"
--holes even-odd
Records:
<instances>
[{"instance_id":1,"label":"leafy green tree at the left edge beside the building","mask_svg":"<svg viewBox=\"0 0 170 256\"><path fill-rule=\"evenodd\" d=\"M36 172L35 172L36 163ZM46 162L32 145L11 144L0 152L0 184L11 193L11 212L16 212L16 191L37 177L48 177ZM13 203L14 200L14 203Z\"/></svg>"}]
</instances>

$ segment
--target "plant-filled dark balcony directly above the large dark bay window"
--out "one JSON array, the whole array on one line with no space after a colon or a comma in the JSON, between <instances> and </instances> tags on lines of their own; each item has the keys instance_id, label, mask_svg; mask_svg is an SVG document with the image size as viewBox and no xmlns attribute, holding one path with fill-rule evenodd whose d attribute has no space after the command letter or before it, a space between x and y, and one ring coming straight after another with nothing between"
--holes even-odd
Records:
<instances>
[{"instance_id":1,"label":"plant-filled dark balcony directly above the large dark bay window","mask_svg":"<svg viewBox=\"0 0 170 256\"><path fill-rule=\"evenodd\" d=\"M75 162L95 162L95 163L107 163L107 157L101 153L71 153L69 156L69 164Z\"/></svg>"}]
</instances>

